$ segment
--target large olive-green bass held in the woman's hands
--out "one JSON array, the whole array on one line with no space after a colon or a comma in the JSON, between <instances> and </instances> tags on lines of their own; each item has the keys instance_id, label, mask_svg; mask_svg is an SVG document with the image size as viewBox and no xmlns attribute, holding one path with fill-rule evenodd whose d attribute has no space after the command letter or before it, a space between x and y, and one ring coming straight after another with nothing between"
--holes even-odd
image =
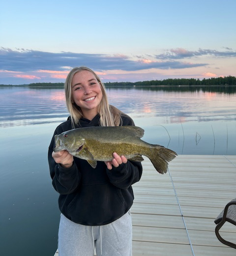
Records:
<instances>
[{"instance_id":1,"label":"large olive-green bass held in the woman's hands","mask_svg":"<svg viewBox=\"0 0 236 256\"><path fill-rule=\"evenodd\" d=\"M113 160L113 153L127 160L143 161L148 157L161 174L177 153L164 146L149 144L141 138L144 129L137 126L75 128L55 135L54 152L68 151L74 157L87 160L95 168L97 161Z\"/></svg>"}]
</instances>

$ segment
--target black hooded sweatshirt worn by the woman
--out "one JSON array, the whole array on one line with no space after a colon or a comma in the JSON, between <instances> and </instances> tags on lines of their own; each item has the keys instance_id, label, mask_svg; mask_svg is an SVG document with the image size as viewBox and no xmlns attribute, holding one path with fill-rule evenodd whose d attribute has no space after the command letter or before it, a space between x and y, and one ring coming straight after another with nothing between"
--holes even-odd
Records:
<instances>
[{"instance_id":1,"label":"black hooded sweatshirt worn by the woman","mask_svg":"<svg viewBox=\"0 0 236 256\"><path fill-rule=\"evenodd\" d=\"M99 126L100 116L91 121L80 119L80 127ZM121 116L123 126L134 125L128 116ZM76 127L76 128L79 128ZM140 162L130 161L108 170L102 161L92 168L86 160L74 157L70 168L63 168L52 158L56 134L70 130L71 120L60 124L49 146L48 161L53 187L59 192L59 209L69 220L83 225L109 224L123 216L132 206L131 185L142 175Z\"/></svg>"}]
</instances>

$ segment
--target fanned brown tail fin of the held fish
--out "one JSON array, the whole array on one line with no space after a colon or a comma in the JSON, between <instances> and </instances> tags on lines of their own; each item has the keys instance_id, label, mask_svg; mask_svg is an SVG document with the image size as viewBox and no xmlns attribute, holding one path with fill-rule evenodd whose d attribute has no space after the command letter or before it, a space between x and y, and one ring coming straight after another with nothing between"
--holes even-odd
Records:
<instances>
[{"instance_id":1,"label":"fanned brown tail fin of the held fish","mask_svg":"<svg viewBox=\"0 0 236 256\"><path fill-rule=\"evenodd\" d=\"M150 154L148 155L147 157L155 169L159 173L164 174L167 172L168 162L173 160L177 156L177 153L171 149L156 145L155 148L150 149Z\"/></svg>"}]
</instances>

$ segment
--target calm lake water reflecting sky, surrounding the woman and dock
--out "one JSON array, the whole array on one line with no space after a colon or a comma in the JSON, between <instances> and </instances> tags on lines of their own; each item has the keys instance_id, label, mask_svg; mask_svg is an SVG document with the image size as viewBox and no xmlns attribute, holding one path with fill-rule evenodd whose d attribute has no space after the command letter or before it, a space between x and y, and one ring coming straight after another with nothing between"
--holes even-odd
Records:
<instances>
[{"instance_id":1,"label":"calm lake water reflecting sky, surrounding the woman and dock","mask_svg":"<svg viewBox=\"0 0 236 256\"><path fill-rule=\"evenodd\" d=\"M236 88L108 88L110 103L177 154L236 155ZM47 163L62 89L0 87L0 255L52 256L58 194Z\"/></svg>"}]
</instances>

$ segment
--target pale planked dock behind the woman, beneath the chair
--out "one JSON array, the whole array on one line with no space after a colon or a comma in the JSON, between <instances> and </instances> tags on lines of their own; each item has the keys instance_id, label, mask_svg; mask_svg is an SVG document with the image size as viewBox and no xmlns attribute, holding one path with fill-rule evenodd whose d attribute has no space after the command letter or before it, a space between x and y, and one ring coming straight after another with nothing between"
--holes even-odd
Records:
<instances>
[{"instance_id":1,"label":"pale planked dock behind the woman, beneath the chair","mask_svg":"<svg viewBox=\"0 0 236 256\"><path fill-rule=\"evenodd\" d=\"M165 175L147 158L143 168L133 185L133 256L236 255L214 231L214 219L236 197L236 156L179 155ZM221 230L236 243L236 226Z\"/></svg>"}]
</instances>

